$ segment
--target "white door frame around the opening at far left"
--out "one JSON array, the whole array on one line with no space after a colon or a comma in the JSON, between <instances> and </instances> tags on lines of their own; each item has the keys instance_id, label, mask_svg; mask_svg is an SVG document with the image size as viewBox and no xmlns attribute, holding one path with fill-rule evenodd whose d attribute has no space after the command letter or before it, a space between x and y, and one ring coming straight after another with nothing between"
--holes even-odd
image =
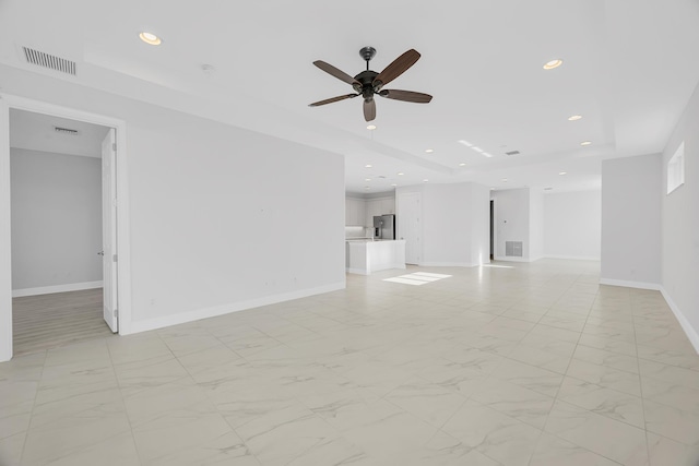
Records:
<instances>
[{"instance_id":1,"label":"white door frame around the opening at far left","mask_svg":"<svg viewBox=\"0 0 699 466\"><path fill-rule=\"evenodd\" d=\"M51 115L117 130L117 273L119 334L131 333L131 243L126 121L45 101L0 93L0 362L12 358L12 241L10 228L10 109Z\"/></svg>"}]
</instances>

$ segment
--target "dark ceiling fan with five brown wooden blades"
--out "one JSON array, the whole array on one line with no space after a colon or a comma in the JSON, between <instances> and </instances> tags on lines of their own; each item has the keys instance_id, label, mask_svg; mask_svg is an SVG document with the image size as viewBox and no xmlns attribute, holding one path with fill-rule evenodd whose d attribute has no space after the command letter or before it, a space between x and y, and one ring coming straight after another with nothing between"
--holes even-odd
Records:
<instances>
[{"instance_id":1,"label":"dark ceiling fan with five brown wooden blades","mask_svg":"<svg viewBox=\"0 0 699 466\"><path fill-rule=\"evenodd\" d=\"M401 74L403 74L408 68L411 68L419 59L419 53L410 49L380 73L369 70L369 61L376 55L374 47L364 47L359 50L359 55L367 62L367 69L356 76L352 77L350 74L336 69L332 64L324 61L313 61L313 64L328 74L332 74L340 81L347 84L352 84L355 94L345 94L337 97L327 98L324 100L315 101L309 104L309 107L319 107L325 104L332 104L333 101L344 100L346 98L354 98L357 96L364 97L364 119L371 121L376 118L376 101L375 95L379 95L386 98L392 98L394 100L412 101L415 104L428 104L433 96L429 94L416 93L413 91L399 91L399 89L384 89L383 86Z\"/></svg>"}]
</instances>

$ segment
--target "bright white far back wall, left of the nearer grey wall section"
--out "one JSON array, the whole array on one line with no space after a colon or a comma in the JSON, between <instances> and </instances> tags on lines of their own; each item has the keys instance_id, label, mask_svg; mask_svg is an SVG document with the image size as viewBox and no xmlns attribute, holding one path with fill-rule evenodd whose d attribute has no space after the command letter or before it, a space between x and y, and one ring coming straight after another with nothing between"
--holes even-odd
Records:
<instances>
[{"instance_id":1,"label":"bright white far back wall, left of the nearer grey wall section","mask_svg":"<svg viewBox=\"0 0 699 466\"><path fill-rule=\"evenodd\" d=\"M602 192L544 195L544 256L600 260Z\"/></svg>"}]
</instances>

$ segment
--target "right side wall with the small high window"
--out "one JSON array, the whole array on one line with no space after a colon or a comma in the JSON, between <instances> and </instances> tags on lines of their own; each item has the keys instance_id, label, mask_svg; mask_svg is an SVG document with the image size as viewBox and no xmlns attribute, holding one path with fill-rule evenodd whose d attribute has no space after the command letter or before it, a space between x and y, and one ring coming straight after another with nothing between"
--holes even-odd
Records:
<instances>
[{"instance_id":1,"label":"right side wall with the small high window","mask_svg":"<svg viewBox=\"0 0 699 466\"><path fill-rule=\"evenodd\" d=\"M699 86L662 156L662 291L699 351ZM685 184L666 195L667 162L685 142Z\"/></svg>"}]
</instances>

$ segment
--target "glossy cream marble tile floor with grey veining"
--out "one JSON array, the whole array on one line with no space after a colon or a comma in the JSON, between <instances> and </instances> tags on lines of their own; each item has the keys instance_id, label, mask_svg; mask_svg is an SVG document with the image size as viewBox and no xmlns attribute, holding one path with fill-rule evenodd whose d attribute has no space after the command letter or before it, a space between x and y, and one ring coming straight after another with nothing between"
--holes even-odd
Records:
<instances>
[{"instance_id":1,"label":"glossy cream marble tile floor with grey veining","mask_svg":"<svg viewBox=\"0 0 699 466\"><path fill-rule=\"evenodd\" d=\"M659 292L497 265L19 356L0 465L699 464L699 356Z\"/></svg>"}]
</instances>

